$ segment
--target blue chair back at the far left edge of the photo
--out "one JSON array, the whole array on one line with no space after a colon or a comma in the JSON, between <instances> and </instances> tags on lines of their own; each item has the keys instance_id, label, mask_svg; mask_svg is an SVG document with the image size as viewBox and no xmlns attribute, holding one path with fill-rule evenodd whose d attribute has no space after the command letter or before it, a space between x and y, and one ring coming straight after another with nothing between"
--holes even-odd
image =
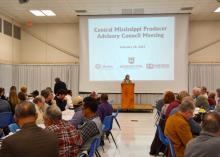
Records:
<instances>
[{"instance_id":1,"label":"blue chair back at the far left edge of the photo","mask_svg":"<svg viewBox=\"0 0 220 157\"><path fill-rule=\"evenodd\" d=\"M9 124L13 123L12 112L2 112L0 113L0 128L4 128Z\"/></svg>"}]
</instances>

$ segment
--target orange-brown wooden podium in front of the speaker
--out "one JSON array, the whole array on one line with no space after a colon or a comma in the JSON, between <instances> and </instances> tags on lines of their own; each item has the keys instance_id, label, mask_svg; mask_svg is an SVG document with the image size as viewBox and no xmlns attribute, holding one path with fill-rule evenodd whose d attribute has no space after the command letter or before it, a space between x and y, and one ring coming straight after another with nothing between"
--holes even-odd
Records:
<instances>
[{"instance_id":1,"label":"orange-brown wooden podium in front of the speaker","mask_svg":"<svg viewBox=\"0 0 220 157\"><path fill-rule=\"evenodd\" d=\"M134 109L134 83L121 84L121 108Z\"/></svg>"}]
</instances>

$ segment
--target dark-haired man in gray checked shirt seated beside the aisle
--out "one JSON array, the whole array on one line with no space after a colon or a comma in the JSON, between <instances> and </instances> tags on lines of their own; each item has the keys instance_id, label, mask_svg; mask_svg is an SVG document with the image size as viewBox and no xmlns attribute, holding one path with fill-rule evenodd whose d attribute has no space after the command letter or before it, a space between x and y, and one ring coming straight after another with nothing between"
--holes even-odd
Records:
<instances>
[{"instance_id":1,"label":"dark-haired man in gray checked shirt seated beside the aisle","mask_svg":"<svg viewBox=\"0 0 220 157\"><path fill-rule=\"evenodd\" d=\"M82 151L88 151L94 137L101 138L102 136L102 122L97 116L98 102L92 97L83 99L83 114L86 118L85 123L79 128L82 138Z\"/></svg>"}]
</instances>

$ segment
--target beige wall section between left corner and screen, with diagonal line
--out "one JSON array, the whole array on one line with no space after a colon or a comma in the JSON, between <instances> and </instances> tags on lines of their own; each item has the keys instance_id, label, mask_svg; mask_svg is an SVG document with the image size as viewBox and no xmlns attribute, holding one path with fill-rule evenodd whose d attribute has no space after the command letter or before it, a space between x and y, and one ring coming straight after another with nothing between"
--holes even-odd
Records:
<instances>
[{"instance_id":1,"label":"beige wall section between left corner and screen, with diagonal line","mask_svg":"<svg viewBox=\"0 0 220 157\"><path fill-rule=\"evenodd\" d=\"M21 63L78 62L78 32L78 24L33 24L32 27L23 27Z\"/></svg>"}]
</instances>

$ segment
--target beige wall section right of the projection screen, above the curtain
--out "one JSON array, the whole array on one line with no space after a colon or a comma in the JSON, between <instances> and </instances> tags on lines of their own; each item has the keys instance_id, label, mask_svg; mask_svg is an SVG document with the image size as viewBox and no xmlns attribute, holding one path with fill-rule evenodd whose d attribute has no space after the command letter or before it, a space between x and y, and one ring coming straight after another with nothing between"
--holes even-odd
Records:
<instances>
[{"instance_id":1,"label":"beige wall section right of the projection screen, above the curtain","mask_svg":"<svg viewBox=\"0 0 220 157\"><path fill-rule=\"evenodd\" d=\"M220 21L190 22L189 50L190 62L220 63Z\"/></svg>"}]
</instances>

